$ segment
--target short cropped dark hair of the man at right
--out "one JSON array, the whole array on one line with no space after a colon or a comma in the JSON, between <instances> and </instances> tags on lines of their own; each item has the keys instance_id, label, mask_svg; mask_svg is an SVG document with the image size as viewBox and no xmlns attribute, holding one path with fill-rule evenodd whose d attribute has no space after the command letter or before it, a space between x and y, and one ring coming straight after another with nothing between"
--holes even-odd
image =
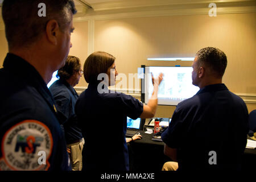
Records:
<instances>
[{"instance_id":1,"label":"short cropped dark hair of the man at right","mask_svg":"<svg viewBox=\"0 0 256 182\"><path fill-rule=\"evenodd\" d=\"M224 52L218 48L205 47L196 53L198 65L207 66L213 75L221 78L224 75L227 59Z\"/></svg>"}]
</instances>

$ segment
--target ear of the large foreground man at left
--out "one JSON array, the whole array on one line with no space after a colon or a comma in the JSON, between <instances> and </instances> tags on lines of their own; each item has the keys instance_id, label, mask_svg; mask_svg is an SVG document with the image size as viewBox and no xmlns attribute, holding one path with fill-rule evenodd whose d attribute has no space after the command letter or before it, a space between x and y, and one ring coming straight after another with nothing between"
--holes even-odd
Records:
<instances>
[{"instance_id":1,"label":"ear of the large foreground man at left","mask_svg":"<svg viewBox=\"0 0 256 182\"><path fill-rule=\"evenodd\" d=\"M51 19L46 24L46 36L50 43L57 45L57 35L59 34L60 27L56 20Z\"/></svg>"}]
</instances>

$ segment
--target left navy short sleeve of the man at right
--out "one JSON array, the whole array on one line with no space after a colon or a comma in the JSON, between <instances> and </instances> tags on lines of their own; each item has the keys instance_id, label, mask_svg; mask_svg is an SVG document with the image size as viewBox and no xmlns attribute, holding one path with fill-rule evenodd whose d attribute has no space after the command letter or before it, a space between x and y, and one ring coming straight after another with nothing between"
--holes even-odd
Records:
<instances>
[{"instance_id":1,"label":"left navy short sleeve of the man at right","mask_svg":"<svg viewBox=\"0 0 256 182\"><path fill-rule=\"evenodd\" d=\"M169 127L162 133L161 138L168 147L179 148L180 139L183 133L183 117L177 109L172 115L172 120Z\"/></svg>"}]
</instances>

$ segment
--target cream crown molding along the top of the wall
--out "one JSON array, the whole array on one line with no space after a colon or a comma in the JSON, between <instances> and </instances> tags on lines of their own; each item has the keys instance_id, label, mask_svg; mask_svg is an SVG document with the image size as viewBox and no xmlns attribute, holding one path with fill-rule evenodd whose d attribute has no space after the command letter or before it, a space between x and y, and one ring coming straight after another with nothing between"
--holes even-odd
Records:
<instances>
[{"instance_id":1,"label":"cream crown molding along the top of the wall","mask_svg":"<svg viewBox=\"0 0 256 182\"><path fill-rule=\"evenodd\" d=\"M210 10L208 6L212 2L191 2L187 0L146 1L148 1L147 6L143 6L144 0L95 3L92 4L93 10L89 9L85 16L76 17L73 21L86 22L90 19L109 20L172 15L208 15ZM217 16L218 14L256 13L256 1L253 0L226 0L216 1L215 3L217 6Z\"/></svg>"}]
</instances>

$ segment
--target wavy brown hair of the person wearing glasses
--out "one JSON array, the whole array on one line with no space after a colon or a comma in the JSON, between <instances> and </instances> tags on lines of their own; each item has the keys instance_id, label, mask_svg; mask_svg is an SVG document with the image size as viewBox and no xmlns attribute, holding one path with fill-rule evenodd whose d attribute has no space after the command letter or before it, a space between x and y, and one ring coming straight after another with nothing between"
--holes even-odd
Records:
<instances>
[{"instance_id":1,"label":"wavy brown hair of the person wearing glasses","mask_svg":"<svg viewBox=\"0 0 256 182\"><path fill-rule=\"evenodd\" d=\"M58 70L57 78L68 80L75 72L79 72L80 69L80 59L76 56L68 56L64 67Z\"/></svg>"}]
</instances>

